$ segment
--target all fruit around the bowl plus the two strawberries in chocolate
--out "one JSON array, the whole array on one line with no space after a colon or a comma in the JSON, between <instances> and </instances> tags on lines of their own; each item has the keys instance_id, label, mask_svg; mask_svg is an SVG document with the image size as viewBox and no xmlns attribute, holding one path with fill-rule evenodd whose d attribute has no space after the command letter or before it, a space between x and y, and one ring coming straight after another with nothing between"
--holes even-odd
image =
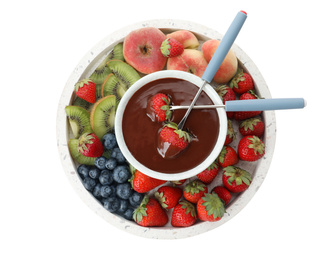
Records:
<instances>
[{"instance_id":1,"label":"all fruit around the bowl plus the two strawberries in chocolate","mask_svg":"<svg viewBox=\"0 0 333 260\"><path fill-rule=\"evenodd\" d=\"M201 77L218 44L214 39L199 42L187 30L165 34L153 27L138 29L115 45L89 78L73 86L75 99L65 108L71 129L68 148L83 186L110 213L145 227L219 221L237 194L251 185L246 162L265 154L261 111L228 112L228 132L220 155L205 171L186 180L167 182L134 169L114 134L117 104L133 83L163 69ZM212 85L223 102L259 98L251 75L239 66L232 50ZM153 121L168 121L169 103L168 96L158 93L149 101L148 116ZM165 124L160 138L184 149L190 136L172 124ZM237 133L241 136L238 143Z\"/></svg>"}]
</instances>

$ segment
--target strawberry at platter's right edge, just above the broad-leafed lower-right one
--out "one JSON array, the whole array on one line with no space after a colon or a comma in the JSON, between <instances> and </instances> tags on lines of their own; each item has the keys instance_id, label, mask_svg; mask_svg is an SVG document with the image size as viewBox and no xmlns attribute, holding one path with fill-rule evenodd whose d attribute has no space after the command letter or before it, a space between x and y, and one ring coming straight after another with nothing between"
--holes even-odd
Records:
<instances>
[{"instance_id":1,"label":"strawberry at platter's right edge, just above the broad-leafed lower-right one","mask_svg":"<svg viewBox=\"0 0 333 260\"><path fill-rule=\"evenodd\" d=\"M243 161L257 161L265 154L265 144L255 135L244 136L238 143L238 156Z\"/></svg>"}]
</instances>

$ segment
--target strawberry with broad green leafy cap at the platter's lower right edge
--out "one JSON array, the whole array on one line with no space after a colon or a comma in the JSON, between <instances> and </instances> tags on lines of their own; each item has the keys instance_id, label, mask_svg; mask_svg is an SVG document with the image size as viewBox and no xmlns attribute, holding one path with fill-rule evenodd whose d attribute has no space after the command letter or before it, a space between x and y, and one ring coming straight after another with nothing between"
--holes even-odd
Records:
<instances>
[{"instance_id":1,"label":"strawberry with broad green leafy cap at the platter's lower right edge","mask_svg":"<svg viewBox=\"0 0 333 260\"><path fill-rule=\"evenodd\" d=\"M246 190L251 181L250 173L239 167L228 166L223 169L222 182L230 192L239 193Z\"/></svg>"}]
</instances>

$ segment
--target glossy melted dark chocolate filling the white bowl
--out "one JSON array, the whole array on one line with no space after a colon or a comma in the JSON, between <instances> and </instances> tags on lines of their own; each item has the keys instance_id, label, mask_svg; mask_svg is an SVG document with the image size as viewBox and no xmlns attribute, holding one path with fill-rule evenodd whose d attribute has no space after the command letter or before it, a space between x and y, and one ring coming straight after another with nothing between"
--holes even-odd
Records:
<instances>
[{"instance_id":1,"label":"glossy melted dark chocolate filling the white bowl","mask_svg":"<svg viewBox=\"0 0 333 260\"><path fill-rule=\"evenodd\" d=\"M167 78L146 84L131 97L124 111L123 134L129 151L141 164L155 171L177 173L194 168L211 153L219 134L215 109L191 111L184 130L188 130L195 138L174 158L163 158L159 154L158 131L163 123L153 122L146 111L149 98L157 93L168 95L172 105L189 105L197 91L198 87L191 82ZM202 92L196 104L210 105L213 102ZM186 109L173 111L171 121L178 124L185 112Z\"/></svg>"}]
</instances>

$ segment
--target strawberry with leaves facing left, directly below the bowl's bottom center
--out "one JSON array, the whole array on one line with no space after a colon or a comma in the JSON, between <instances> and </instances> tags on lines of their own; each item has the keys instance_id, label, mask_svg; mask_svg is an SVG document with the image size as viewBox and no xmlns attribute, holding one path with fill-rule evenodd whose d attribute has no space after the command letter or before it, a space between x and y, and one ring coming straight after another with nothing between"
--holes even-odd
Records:
<instances>
[{"instance_id":1,"label":"strawberry with leaves facing left, directly below the bowl's bottom center","mask_svg":"<svg viewBox=\"0 0 333 260\"><path fill-rule=\"evenodd\" d=\"M164 209L171 209L177 205L181 196L183 196L183 192L181 188L162 186L154 195Z\"/></svg>"}]
</instances>

